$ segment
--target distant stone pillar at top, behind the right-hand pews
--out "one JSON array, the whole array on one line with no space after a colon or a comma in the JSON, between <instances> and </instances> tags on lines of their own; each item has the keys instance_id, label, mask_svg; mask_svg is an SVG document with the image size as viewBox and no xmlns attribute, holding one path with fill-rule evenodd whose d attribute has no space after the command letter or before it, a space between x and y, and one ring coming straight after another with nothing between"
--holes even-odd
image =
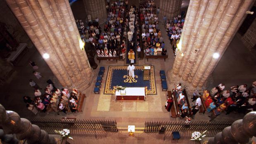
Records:
<instances>
[{"instance_id":1,"label":"distant stone pillar at top, behind the right-hand pews","mask_svg":"<svg viewBox=\"0 0 256 144\"><path fill-rule=\"evenodd\" d=\"M160 0L160 18L173 19L180 14L182 0Z\"/></svg>"}]
</instances>

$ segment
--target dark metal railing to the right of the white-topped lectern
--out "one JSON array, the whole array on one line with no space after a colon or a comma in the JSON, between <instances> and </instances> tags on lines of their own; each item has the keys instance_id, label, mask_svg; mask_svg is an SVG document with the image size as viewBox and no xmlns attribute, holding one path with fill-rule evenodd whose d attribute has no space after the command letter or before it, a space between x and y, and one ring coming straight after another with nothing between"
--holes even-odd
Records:
<instances>
[{"instance_id":1,"label":"dark metal railing to the right of the white-topped lectern","mask_svg":"<svg viewBox=\"0 0 256 144\"><path fill-rule=\"evenodd\" d=\"M189 124L184 121L162 121L162 122L145 122L144 132L159 132L161 127L165 130L223 130L225 127L232 125L232 121L192 121Z\"/></svg>"}]
</instances>

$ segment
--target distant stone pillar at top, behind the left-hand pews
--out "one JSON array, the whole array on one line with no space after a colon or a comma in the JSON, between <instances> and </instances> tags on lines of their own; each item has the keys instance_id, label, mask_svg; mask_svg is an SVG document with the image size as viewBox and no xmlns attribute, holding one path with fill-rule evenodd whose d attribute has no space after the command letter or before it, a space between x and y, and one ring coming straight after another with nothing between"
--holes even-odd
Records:
<instances>
[{"instance_id":1,"label":"distant stone pillar at top, behind the left-hand pews","mask_svg":"<svg viewBox=\"0 0 256 144\"><path fill-rule=\"evenodd\" d=\"M107 19L107 9L105 0L83 0L86 15L90 14L91 19L99 18L99 23L103 24Z\"/></svg>"}]
</instances>

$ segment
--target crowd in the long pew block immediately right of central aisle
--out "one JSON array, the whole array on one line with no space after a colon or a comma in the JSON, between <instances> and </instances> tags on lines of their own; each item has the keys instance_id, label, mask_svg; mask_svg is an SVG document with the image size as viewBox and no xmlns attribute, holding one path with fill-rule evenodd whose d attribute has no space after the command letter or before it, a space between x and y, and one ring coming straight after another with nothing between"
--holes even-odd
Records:
<instances>
[{"instance_id":1,"label":"crowd in the long pew block immediately right of central aisle","mask_svg":"<svg viewBox=\"0 0 256 144\"><path fill-rule=\"evenodd\" d=\"M154 0L140 2L140 21L142 28L142 44L145 55L166 55L164 40L159 29L159 8L156 8Z\"/></svg>"}]
</instances>

